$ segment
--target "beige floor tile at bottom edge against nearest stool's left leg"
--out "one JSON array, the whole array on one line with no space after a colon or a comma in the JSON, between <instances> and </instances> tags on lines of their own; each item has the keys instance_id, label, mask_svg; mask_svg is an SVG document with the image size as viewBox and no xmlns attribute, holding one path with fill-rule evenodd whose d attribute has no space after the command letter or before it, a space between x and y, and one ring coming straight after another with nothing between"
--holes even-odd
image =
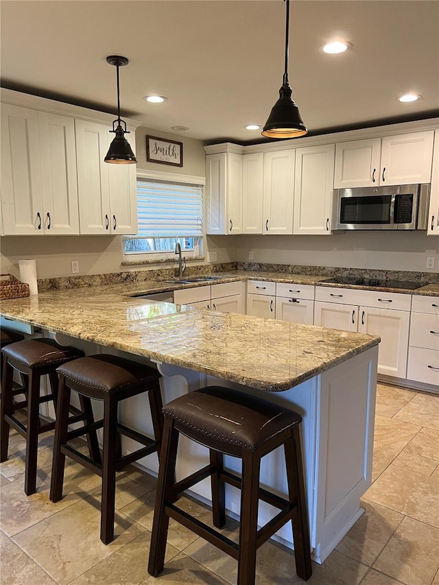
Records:
<instances>
[{"instance_id":1,"label":"beige floor tile at bottom edge against nearest stool's left leg","mask_svg":"<svg viewBox=\"0 0 439 585\"><path fill-rule=\"evenodd\" d=\"M80 575L70 585L105 584L105 585L138 585L148 577L147 562L150 553L151 533L145 530L128 545L121 547L106 559L95 564L91 569ZM177 549L166 547L165 562L169 562L179 553ZM161 585L161 581L157 582Z\"/></svg>"}]
</instances>

